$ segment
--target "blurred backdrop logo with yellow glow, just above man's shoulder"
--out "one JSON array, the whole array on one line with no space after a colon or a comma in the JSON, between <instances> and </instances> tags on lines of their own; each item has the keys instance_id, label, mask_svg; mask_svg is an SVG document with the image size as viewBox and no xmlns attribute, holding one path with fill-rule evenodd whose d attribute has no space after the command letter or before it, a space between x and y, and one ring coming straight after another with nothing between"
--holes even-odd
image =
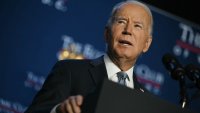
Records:
<instances>
[{"instance_id":1,"label":"blurred backdrop logo with yellow glow, just above man's shoulder","mask_svg":"<svg viewBox=\"0 0 200 113\"><path fill-rule=\"evenodd\" d=\"M75 42L72 37L63 35L62 49L57 53L58 60L63 59L94 59L103 52L96 50L91 44Z\"/></svg>"}]
</instances>

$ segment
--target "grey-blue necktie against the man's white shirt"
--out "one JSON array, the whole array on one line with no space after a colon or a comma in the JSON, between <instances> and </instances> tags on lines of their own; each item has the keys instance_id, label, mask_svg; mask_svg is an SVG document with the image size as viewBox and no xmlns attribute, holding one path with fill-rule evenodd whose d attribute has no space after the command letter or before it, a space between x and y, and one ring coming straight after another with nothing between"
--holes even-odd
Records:
<instances>
[{"instance_id":1,"label":"grey-blue necktie against the man's white shirt","mask_svg":"<svg viewBox=\"0 0 200 113\"><path fill-rule=\"evenodd\" d=\"M126 79L129 80L128 75L125 72L120 71L117 73L117 77L118 77L118 83L126 86Z\"/></svg>"}]
</instances>

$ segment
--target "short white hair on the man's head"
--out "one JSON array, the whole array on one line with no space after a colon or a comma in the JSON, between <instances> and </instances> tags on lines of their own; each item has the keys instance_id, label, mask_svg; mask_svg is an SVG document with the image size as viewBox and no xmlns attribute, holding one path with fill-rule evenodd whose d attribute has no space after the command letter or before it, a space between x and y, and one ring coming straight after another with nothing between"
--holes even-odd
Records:
<instances>
[{"instance_id":1,"label":"short white hair on the man's head","mask_svg":"<svg viewBox=\"0 0 200 113\"><path fill-rule=\"evenodd\" d=\"M151 13L151 10L149 9L149 7L147 5L145 5L144 3L142 2L139 2L139 1L136 1L136 0L127 0L127 1L123 1L123 2L120 2L118 4L116 4L113 9L112 9L112 12L111 12L111 15L108 19L108 22L107 22L107 26L111 26L112 24L112 21L113 21L113 16L115 15L115 13L117 12L117 10L122 6L122 5L125 5L125 4L134 4L134 5L138 5L138 6L141 6L144 8L144 10L147 11L149 17L150 17L150 27L149 27L149 33L152 35L152 32L153 32L153 16L152 16L152 13Z\"/></svg>"}]
</instances>

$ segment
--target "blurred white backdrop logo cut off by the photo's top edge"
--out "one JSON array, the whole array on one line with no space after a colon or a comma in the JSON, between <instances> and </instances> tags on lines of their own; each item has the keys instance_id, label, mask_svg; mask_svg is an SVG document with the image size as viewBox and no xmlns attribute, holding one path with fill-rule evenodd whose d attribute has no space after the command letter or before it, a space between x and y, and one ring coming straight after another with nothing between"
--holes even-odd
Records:
<instances>
[{"instance_id":1,"label":"blurred white backdrop logo cut off by the photo's top edge","mask_svg":"<svg viewBox=\"0 0 200 113\"><path fill-rule=\"evenodd\" d=\"M68 0L41 0L44 5L54 6L57 10L66 12Z\"/></svg>"}]
</instances>

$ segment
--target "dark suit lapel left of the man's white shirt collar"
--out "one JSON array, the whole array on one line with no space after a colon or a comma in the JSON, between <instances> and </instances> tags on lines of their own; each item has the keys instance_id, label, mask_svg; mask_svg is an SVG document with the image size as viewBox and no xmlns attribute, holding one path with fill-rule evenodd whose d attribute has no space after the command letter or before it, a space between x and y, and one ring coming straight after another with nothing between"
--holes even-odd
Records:
<instances>
[{"instance_id":1,"label":"dark suit lapel left of the man's white shirt collar","mask_svg":"<svg viewBox=\"0 0 200 113\"><path fill-rule=\"evenodd\" d=\"M92 60L91 65L92 68L90 68L89 71L92 75L95 84L98 86L103 82L105 77L108 77L103 56Z\"/></svg>"}]
</instances>

